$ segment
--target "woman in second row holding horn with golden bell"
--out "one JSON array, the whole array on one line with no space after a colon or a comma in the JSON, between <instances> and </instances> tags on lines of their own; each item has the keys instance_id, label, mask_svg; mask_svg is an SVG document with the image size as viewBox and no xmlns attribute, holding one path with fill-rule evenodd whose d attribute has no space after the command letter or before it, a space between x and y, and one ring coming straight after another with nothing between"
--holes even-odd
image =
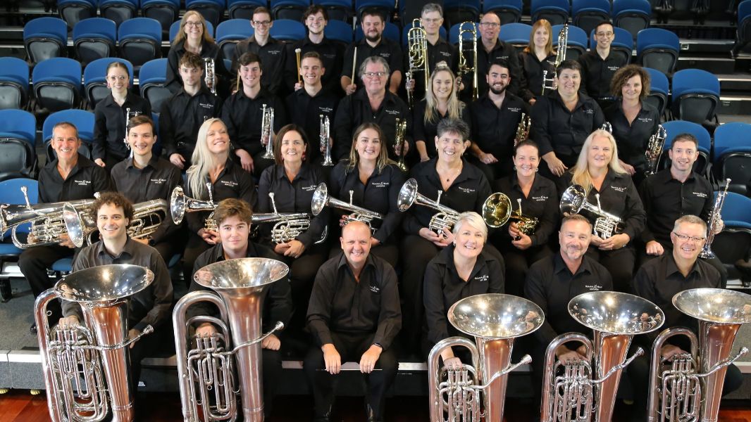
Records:
<instances>
[{"instance_id":1,"label":"woman in second row holding horn with golden bell","mask_svg":"<svg viewBox=\"0 0 751 422\"><path fill-rule=\"evenodd\" d=\"M493 192L505 193L514 211L537 219L533 231L524 233L512 218L493 239L505 260L509 295L521 296L529 266L552 253L547 243L559 221L558 192L550 179L537 174L539 165L537 144L529 139L519 142L514 148L514 174L493 184Z\"/></svg>"}]
</instances>

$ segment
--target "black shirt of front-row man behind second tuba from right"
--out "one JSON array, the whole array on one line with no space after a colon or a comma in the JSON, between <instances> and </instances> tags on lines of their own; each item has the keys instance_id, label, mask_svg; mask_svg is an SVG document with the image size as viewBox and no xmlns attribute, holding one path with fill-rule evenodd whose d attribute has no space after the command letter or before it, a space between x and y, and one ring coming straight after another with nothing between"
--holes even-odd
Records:
<instances>
[{"instance_id":1,"label":"black shirt of front-row man behind second tuba from right","mask_svg":"<svg viewBox=\"0 0 751 422\"><path fill-rule=\"evenodd\" d=\"M547 346L559 334L589 333L589 328L569 314L569 301L582 293L611 290L610 273L589 256L582 256L575 274L563 262L560 253L535 262L529 267L524 283L524 296L535 302L545 315L545 322L533 334L535 340Z\"/></svg>"}]
</instances>

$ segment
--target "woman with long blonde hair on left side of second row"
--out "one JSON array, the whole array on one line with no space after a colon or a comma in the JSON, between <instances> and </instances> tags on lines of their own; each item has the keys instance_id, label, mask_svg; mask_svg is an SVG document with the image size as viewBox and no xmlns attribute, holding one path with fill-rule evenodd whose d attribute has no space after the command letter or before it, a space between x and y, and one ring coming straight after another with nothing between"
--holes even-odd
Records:
<instances>
[{"instance_id":1,"label":"woman with long blonde hair on left side of second row","mask_svg":"<svg viewBox=\"0 0 751 422\"><path fill-rule=\"evenodd\" d=\"M227 198L239 198L255 206L255 186L249 173L244 172L230 158L230 137L227 127L219 118L204 121L198 130L198 141L191 159L185 181L185 196L207 201L209 189L214 202ZM211 183L211 187L206 184ZM185 214L188 226L188 243L182 255L182 274L185 283L193 280L193 265L204 250L219 243L219 233L206 228L210 211Z\"/></svg>"}]
</instances>

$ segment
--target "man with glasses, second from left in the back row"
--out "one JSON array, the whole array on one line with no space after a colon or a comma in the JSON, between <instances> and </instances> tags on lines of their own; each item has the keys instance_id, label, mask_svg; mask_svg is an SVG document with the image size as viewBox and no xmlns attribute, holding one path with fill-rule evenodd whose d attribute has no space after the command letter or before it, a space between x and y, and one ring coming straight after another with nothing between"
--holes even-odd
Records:
<instances>
[{"instance_id":1,"label":"man with glasses, second from left in the back row","mask_svg":"<svg viewBox=\"0 0 751 422\"><path fill-rule=\"evenodd\" d=\"M269 30L274 25L271 21L271 12L263 6L253 10L250 21L253 34L245 40L237 43L232 55L232 73L237 75L240 56L246 52L253 52L261 57L264 62L264 75L261 83L274 95L282 94L284 87L284 69L287 60L287 48L285 43L276 40L269 35ZM232 91L234 91L233 87Z\"/></svg>"}]
</instances>

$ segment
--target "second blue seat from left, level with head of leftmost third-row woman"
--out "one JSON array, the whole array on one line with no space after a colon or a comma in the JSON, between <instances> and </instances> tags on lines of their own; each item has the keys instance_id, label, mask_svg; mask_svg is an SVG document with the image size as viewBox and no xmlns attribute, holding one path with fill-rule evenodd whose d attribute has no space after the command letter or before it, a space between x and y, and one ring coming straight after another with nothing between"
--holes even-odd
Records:
<instances>
[{"instance_id":1,"label":"second blue seat from left, level with head of leftmost third-row woman","mask_svg":"<svg viewBox=\"0 0 751 422\"><path fill-rule=\"evenodd\" d=\"M72 58L48 58L32 70L32 84L41 108L50 112L77 108L81 93L81 64Z\"/></svg>"}]
</instances>

